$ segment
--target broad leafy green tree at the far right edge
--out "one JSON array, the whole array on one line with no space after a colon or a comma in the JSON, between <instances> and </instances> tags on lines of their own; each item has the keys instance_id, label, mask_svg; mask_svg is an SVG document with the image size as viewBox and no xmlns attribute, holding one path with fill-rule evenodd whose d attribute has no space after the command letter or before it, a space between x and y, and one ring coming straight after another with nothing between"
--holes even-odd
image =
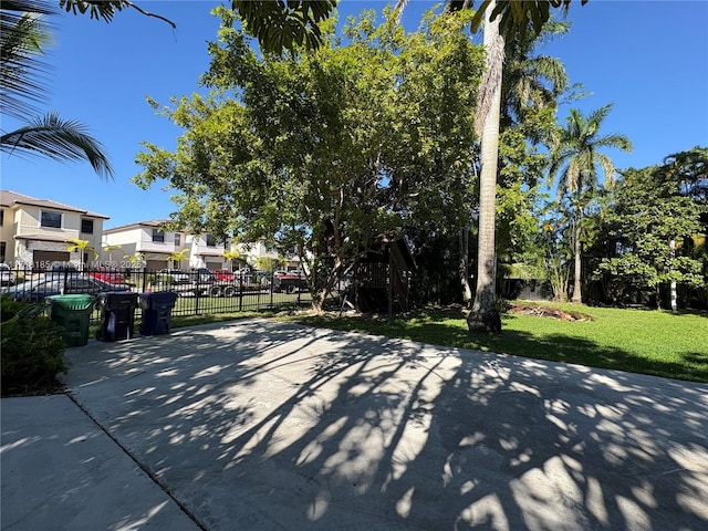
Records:
<instances>
[{"instance_id":1,"label":"broad leafy green tree at the far right edge","mask_svg":"<svg viewBox=\"0 0 708 531\"><path fill-rule=\"evenodd\" d=\"M695 178L701 165L704 179L706 175L708 149L702 152L702 157L695 148L667 157L660 166L623 171L605 219L616 256L603 259L597 268L610 275L618 300L637 290L654 295L660 308L662 289L669 288L670 306L676 310L676 284L706 289L705 263L696 243L705 237L701 217L708 209L701 195L694 194L701 186Z\"/></svg>"}]
</instances>

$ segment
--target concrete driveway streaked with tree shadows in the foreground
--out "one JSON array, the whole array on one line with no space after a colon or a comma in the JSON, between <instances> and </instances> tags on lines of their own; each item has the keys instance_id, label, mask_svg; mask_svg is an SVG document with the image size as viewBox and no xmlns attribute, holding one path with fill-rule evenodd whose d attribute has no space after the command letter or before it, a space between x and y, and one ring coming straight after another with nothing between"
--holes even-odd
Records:
<instances>
[{"instance_id":1,"label":"concrete driveway streaked with tree shadows in the foreground","mask_svg":"<svg viewBox=\"0 0 708 531\"><path fill-rule=\"evenodd\" d=\"M1 400L2 530L708 529L708 385L248 320Z\"/></svg>"}]
</instances>

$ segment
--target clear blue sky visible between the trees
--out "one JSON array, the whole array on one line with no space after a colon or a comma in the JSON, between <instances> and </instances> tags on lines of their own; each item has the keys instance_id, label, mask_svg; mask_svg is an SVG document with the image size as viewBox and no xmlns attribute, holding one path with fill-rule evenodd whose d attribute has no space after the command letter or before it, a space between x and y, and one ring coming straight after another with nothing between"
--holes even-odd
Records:
<instances>
[{"instance_id":1,"label":"clear blue sky visible between the trees","mask_svg":"<svg viewBox=\"0 0 708 531\"><path fill-rule=\"evenodd\" d=\"M56 2L59 3L59 1ZM145 191L131 183L140 142L173 149L180 131L156 116L145 98L160 104L198 90L209 65L207 41L218 20L218 1L139 1L147 11L177 23L177 30L128 10L110 24L87 17L53 18L50 100L43 106L86 124L102 142L116 170L101 180L86 163L62 164L2 154L1 188L52 199L110 216L105 228L166 218L174 210L159 185ZM343 0L358 12L386 2ZM404 23L414 29L434 2L410 0ZM573 1L568 35L542 52L565 64L570 81L592 94L574 102L584 113L614 107L605 133L627 135L634 152L607 152L617 168L644 167L671 153L708 145L708 2ZM568 113L569 106L560 114ZM2 129L15 127L2 117Z\"/></svg>"}]
</instances>

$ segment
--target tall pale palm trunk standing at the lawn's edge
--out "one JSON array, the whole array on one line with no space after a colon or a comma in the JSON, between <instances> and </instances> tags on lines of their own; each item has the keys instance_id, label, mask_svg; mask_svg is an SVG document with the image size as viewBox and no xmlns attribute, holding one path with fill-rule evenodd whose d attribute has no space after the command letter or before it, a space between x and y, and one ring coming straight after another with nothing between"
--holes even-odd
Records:
<instances>
[{"instance_id":1,"label":"tall pale palm trunk standing at the lawn's edge","mask_svg":"<svg viewBox=\"0 0 708 531\"><path fill-rule=\"evenodd\" d=\"M497 164L499 159L499 115L501 107L501 72L504 61L504 41L499 34L499 17L494 21L485 19L485 49L487 69L480 97L478 116L483 119L481 135L481 174L479 177L479 233L477 257L477 291L472 309L467 316L467 326L472 331L501 333L501 317L497 310L496 289L497 256L494 242L494 210L497 194Z\"/></svg>"}]
</instances>

